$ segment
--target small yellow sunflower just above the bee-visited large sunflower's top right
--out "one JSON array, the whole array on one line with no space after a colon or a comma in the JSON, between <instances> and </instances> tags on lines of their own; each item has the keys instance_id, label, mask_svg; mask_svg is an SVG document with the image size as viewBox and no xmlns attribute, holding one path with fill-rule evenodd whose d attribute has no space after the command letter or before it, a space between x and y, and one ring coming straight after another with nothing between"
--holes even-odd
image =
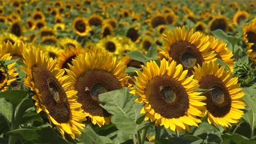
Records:
<instances>
[{"instance_id":1,"label":"small yellow sunflower just above the bee-visited large sunflower's top right","mask_svg":"<svg viewBox=\"0 0 256 144\"><path fill-rule=\"evenodd\" d=\"M110 52L114 55L119 55L122 47L119 40L116 37L106 37L101 39L98 44L96 44L97 49L101 49L103 52Z\"/></svg>"}]
</instances>

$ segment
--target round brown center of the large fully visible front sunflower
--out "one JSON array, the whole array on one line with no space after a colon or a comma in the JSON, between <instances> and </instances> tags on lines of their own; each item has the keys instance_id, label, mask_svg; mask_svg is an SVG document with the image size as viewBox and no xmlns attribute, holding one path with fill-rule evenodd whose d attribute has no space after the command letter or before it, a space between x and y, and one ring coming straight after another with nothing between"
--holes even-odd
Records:
<instances>
[{"instance_id":1,"label":"round brown center of the large fully visible front sunflower","mask_svg":"<svg viewBox=\"0 0 256 144\"><path fill-rule=\"evenodd\" d=\"M189 98L180 82L168 75L151 79L145 89L152 109L165 118L179 118L189 109Z\"/></svg>"}]
</instances>

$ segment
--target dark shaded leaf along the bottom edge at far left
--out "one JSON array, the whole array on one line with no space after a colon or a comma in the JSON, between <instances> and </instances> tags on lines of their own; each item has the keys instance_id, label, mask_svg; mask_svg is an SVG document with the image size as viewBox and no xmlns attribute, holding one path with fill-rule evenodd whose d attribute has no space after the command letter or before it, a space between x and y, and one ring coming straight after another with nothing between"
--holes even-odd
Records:
<instances>
[{"instance_id":1,"label":"dark shaded leaf along the bottom edge at far left","mask_svg":"<svg viewBox=\"0 0 256 144\"><path fill-rule=\"evenodd\" d=\"M24 143L70 143L57 135L57 133L50 127L15 129L6 134L18 137L24 141Z\"/></svg>"}]
</instances>

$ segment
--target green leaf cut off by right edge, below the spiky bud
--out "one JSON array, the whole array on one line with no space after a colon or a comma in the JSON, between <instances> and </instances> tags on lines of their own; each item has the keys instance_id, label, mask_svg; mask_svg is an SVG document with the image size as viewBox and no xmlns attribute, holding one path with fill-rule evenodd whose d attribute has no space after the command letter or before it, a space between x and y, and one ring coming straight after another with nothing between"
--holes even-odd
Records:
<instances>
[{"instance_id":1,"label":"green leaf cut off by right edge, below the spiky bud","mask_svg":"<svg viewBox=\"0 0 256 144\"><path fill-rule=\"evenodd\" d=\"M245 92L243 99L245 99L246 107L248 109L248 111L243 115L243 119L249 123L251 131L254 131L256 128L256 98L254 97L256 88L246 87L243 88L243 92ZM253 135L251 135L251 137L252 136Z\"/></svg>"}]
</instances>

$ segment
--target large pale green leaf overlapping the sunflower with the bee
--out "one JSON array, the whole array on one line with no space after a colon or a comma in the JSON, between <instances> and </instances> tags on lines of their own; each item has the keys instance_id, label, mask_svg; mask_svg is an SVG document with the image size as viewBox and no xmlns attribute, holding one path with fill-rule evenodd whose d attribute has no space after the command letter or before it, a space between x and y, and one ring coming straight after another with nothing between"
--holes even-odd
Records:
<instances>
[{"instance_id":1,"label":"large pale green leaf overlapping the sunflower with the bee","mask_svg":"<svg viewBox=\"0 0 256 144\"><path fill-rule=\"evenodd\" d=\"M126 134L136 134L138 130L146 127L149 122L136 123L144 115L141 115L143 103L135 102L136 95L129 93L129 88L110 91L100 94L98 97L101 106L109 113L113 114L111 118L117 128Z\"/></svg>"}]
</instances>

